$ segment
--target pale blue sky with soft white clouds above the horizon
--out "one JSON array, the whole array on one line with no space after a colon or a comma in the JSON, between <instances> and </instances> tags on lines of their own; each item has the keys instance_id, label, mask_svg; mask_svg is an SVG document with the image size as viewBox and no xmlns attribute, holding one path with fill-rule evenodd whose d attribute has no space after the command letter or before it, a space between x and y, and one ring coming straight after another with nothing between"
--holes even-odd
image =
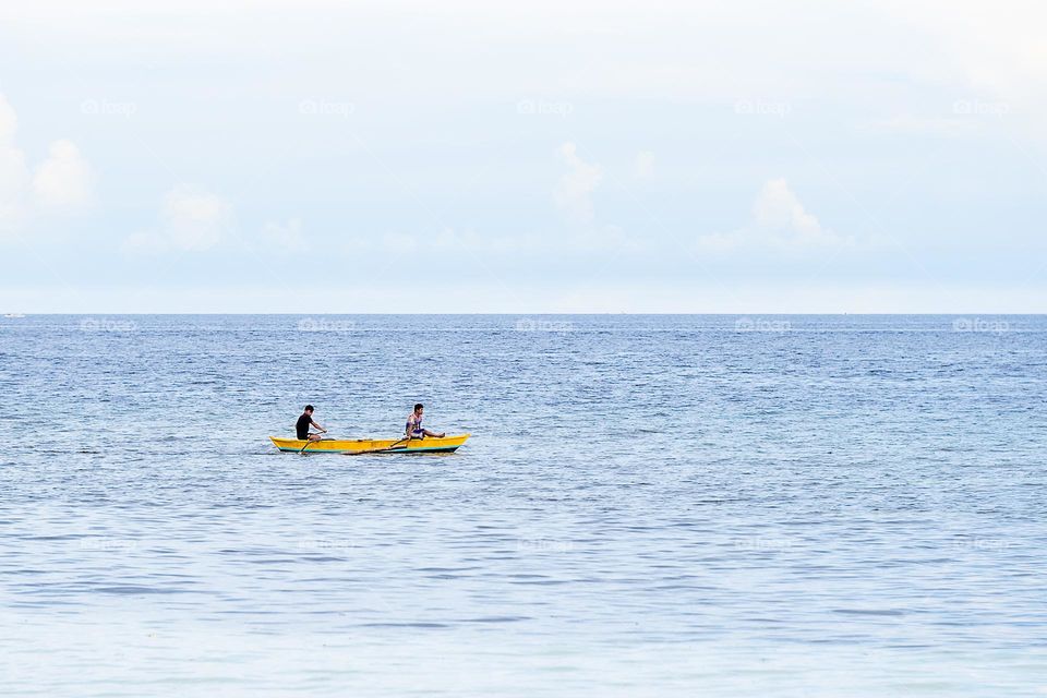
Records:
<instances>
[{"instance_id":1,"label":"pale blue sky with soft white clouds above the horizon","mask_svg":"<svg viewBox=\"0 0 1047 698\"><path fill-rule=\"evenodd\" d=\"M0 312L1047 308L1043 3L20 4Z\"/></svg>"}]
</instances>

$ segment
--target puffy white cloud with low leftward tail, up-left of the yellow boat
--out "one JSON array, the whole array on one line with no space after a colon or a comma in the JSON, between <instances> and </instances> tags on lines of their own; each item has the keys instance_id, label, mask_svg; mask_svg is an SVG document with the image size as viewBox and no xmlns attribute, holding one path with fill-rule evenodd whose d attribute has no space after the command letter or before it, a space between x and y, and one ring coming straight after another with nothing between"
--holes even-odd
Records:
<instances>
[{"instance_id":1,"label":"puffy white cloud with low leftward tail, up-left of the yellow boat","mask_svg":"<svg viewBox=\"0 0 1047 698\"><path fill-rule=\"evenodd\" d=\"M231 226L231 204L192 184L179 184L164 196L159 228L128 237L123 249L149 254L201 252L221 242Z\"/></svg>"}]
</instances>

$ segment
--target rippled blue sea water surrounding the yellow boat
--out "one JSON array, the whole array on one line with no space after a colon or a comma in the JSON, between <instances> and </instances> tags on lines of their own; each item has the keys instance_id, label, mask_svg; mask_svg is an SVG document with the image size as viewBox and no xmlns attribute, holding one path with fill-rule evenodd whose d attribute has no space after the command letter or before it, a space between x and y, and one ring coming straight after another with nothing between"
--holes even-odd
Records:
<instances>
[{"instance_id":1,"label":"rippled blue sea water surrounding the yellow boat","mask_svg":"<svg viewBox=\"0 0 1047 698\"><path fill-rule=\"evenodd\" d=\"M1044 316L0 318L3 695L1047 691ZM454 455L298 456L397 436Z\"/></svg>"}]
</instances>

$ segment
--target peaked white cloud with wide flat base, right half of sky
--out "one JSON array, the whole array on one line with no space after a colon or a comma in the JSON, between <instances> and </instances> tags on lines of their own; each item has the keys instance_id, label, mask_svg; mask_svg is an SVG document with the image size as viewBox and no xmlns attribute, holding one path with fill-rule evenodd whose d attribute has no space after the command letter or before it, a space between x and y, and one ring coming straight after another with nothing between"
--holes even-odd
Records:
<instances>
[{"instance_id":1,"label":"peaked white cloud with wide flat base, right half of sky","mask_svg":"<svg viewBox=\"0 0 1047 698\"><path fill-rule=\"evenodd\" d=\"M808 213L783 179L772 179L753 203L753 219L744 228L727 233L713 233L698 239L699 251L735 249L805 250L853 244L852 238L826 229Z\"/></svg>"}]
</instances>

